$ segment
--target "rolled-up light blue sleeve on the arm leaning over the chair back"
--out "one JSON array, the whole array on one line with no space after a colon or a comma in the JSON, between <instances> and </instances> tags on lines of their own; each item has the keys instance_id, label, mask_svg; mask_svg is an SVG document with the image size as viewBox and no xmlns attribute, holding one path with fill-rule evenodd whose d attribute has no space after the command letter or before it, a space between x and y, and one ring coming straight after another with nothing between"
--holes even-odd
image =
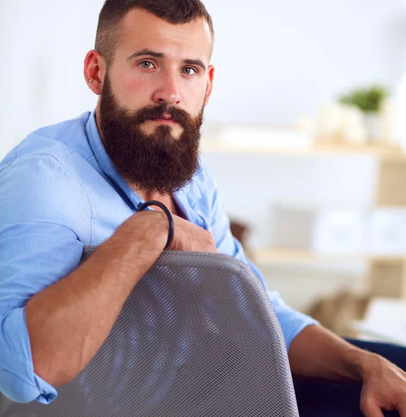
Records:
<instances>
[{"instance_id":1,"label":"rolled-up light blue sleeve on the arm leaning over the chair back","mask_svg":"<svg viewBox=\"0 0 406 417\"><path fill-rule=\"evenodd\" d=\"M77 268L83 243L67 224L86 224L89 213L77 209L83 198L79 183L49 156L0 171L0 391L15 402L56 398L55 387L34 372L26 303Z\"/></svg>"}]
</instances>

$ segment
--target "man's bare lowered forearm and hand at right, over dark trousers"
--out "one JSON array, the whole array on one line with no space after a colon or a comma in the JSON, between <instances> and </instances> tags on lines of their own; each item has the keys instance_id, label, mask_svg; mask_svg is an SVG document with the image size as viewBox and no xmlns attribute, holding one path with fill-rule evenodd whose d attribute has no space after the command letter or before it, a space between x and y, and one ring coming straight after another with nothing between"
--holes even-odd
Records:
<instances>
[{"instance_id":1,"label":"man's bare lowered forearm and hand at right, over dark trousers","mask_svg":"<svg viewBox=\"0 0 406 417\"><path fill-rule=\"evenodd\" d=\"M381 410L406 417L406 373L322 326L306 327L293 339L289 361L293 376L362 384L365 417L383 417Z\"/></svg>"}]
</instances>

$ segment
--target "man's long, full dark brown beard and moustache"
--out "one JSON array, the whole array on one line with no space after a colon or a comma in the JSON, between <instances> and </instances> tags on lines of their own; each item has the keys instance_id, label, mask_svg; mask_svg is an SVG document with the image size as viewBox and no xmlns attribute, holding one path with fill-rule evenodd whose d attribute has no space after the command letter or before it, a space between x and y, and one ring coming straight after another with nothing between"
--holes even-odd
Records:
<instances>
[{"instance_id":1,"label":"man's long, full dark brown beard and moustache","mask_svg":"<svg viewBox=\"0 0 406 417\"><path fill-rule=\"evenodd\" d=\"M189 183L199 168L200 127L204 106L193 117L166 104L129 113L117 104L106 75L100 99L100 127L104 146L115 169L134 188L172 195ZM170 126L157 126L145 134L140 125L170 115L184 129L179 138Z\"/></svg>"}]
</instances>

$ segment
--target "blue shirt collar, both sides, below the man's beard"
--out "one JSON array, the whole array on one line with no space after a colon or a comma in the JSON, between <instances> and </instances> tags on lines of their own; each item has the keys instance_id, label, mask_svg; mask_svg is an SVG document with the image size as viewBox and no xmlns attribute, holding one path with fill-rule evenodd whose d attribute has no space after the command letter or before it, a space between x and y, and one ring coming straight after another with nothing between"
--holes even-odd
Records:
<instances>
[{"instance_id":1,"label":"blue shirt collar, both sides, below the man's beard","mask_svg":"<svg viewBox=\"0 0 406 417\"><path fill-rule=\"evenodd\" d=\"M99 164L101 170L106 176L119 187L127 197L131 200L135 210L137 211L141 204L144 203L143 199L134 191L127 181L115 170L113 161L106 152L106 148L101 140L99 129L97 129L96 123L96 110L90 113L88 122L86 123L86 134L88 136L90 147L95 155L96 161ZM193 181L187 186L182 188L178 193L173 196L181 208L186 209L186 200L192 208L195 206L197 199L201 197L200 191L194 186Z\"/></svg>"}]
</instances>

